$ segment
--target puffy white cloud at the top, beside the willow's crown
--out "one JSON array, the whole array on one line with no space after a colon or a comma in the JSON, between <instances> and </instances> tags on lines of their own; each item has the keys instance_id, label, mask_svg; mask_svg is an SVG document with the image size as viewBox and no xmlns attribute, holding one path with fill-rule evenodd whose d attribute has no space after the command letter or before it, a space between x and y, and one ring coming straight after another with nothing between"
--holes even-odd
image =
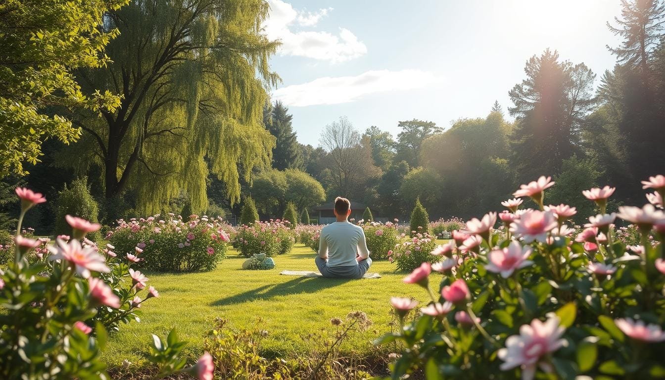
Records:
<instances>
[{"instance_id":1,"label":"puffy white cloud at the top, beside the willow's crown","mask_svg":"<svg viewBox=\"0 0 665 380\"><path fill-rule=\"evenodd\" d=\"M296 27L313 27L332 8L316 12L296 11L289 3L269 0L270 15L263 25L269 39L279 39L282 43L281 55L296 55L321 61L338 63L360 57L367 53L367 47L351 31L339 28L338 35L325 31L300 31Z\"/></svg>"}]
</instances>

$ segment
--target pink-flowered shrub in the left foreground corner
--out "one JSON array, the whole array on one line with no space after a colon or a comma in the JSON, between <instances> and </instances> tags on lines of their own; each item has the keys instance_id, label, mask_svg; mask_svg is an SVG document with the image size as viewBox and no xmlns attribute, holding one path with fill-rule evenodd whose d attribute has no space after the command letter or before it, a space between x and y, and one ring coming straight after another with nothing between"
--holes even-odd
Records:
<instances>
[{"instance_id":1,"label":"pink-flowered shrub in the left foreground corner","mask_svg":"<svg viewBox=\"0 0 665 380\"><path fill-rule=\"evenodd\" d=\"M17 188L21 214L46 202L41 194ZM108 379L100 349L106 341L104 323L114 326L158 292L127 264L111 264L85 238L100 225L66 216L72 237L59 236L57 246L17 234L13 260L0 271L0 377L3 379ZM83 243L81 243L83 242ZM35 255L31 264L27 257ZM127 277L132 280L127 281ZM107 282L108 279L114 282ZM142 295L139 295L142 293ZM156 339L157 341L158 339ZM177 339L170 339L178 345ZM178 355L156 362L160 375L189 371L199 378L198 365L185 367ZM163 371L162 371L163 369ZM208 372L211 373L211 369Z\"/></svg>"}]
</instances>

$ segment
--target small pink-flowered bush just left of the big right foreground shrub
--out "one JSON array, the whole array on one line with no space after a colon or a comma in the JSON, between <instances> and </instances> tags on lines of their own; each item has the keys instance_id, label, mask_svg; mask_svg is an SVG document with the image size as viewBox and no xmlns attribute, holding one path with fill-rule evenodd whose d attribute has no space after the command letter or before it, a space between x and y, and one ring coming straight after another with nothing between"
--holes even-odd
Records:
<instances>
[{"instance_id":1,"label":"small pink-flowered bush just left of the big right foreground shrub","mask_svg":"<svg viewBox=\"0 0 665 380\"><path fill-rule=\"evenodd\" d=\"M388 251L388 260L396 265L401 272L410 272L422 263L433 263L439 260L432 255L436 240L429 234L416 234L413 238L402 237L392 252Z\"/></svg>"}]
</instances>

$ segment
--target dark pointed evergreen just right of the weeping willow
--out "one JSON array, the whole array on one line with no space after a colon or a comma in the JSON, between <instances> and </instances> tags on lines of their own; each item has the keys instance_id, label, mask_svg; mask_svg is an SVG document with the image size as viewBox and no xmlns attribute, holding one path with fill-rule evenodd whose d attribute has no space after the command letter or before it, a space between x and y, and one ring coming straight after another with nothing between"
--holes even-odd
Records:
<instances>
[{"instance_id":1,"label":"dark pointed evergreen just right of the weeping willow","mask_svg":"<svg viewBox=\"0 0 665 380\"><path fill-rule=\"evenodd\" d=\"M291 125L293 115L288 112L289 108L277 100L275 106L270 109L270 117L266 124L267 129L277 140L273 148L273 168L277 170L303 166L300 145Z\"/></svg>"}]
</instances>

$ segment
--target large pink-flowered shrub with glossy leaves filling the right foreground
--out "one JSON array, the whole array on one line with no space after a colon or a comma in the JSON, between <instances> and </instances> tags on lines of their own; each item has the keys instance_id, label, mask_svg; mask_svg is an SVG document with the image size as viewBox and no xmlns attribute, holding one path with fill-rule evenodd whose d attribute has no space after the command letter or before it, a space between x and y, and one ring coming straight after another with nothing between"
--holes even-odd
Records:
<instances>
[{"instance_id":1,"label":"large pink-flowered shrub with glossy leaves filling the right foreground","mask_svg":"<svg viewBox=\"0 0 665 380\"><path fill-rule=\"evenodd\" d=\"M404 328L377 342L406 347L392 379L418 370L428 379L664 377L665 213L657 208L665 176L642 184L660 201L621 206L618 214L605 214L614 188L585 192L600 214L579 234L565 223L575 208L545 207L545 189L554 185L546 177L514 194L533 199L537 210L505 202L505 240L492 233L496 213L469 220L455 242L432 252L441 262L404 278L430 293L423 315L404 325L417 302L392 300ZM618 218L637 226L639 246L626 250L616 239Z\"/></svg>"}]
</instances>

